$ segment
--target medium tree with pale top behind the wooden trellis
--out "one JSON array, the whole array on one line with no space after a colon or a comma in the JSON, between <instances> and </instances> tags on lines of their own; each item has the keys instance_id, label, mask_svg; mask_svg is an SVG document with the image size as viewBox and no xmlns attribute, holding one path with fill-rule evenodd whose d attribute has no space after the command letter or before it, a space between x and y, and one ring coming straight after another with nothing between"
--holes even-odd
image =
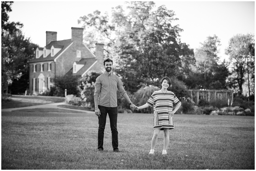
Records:
<instances>
[{"instance_id":1,"label":"medium tree with pale top behind the wooden trellis","mask_svg":"<svg viewBox=\"0 0 256 171\"><path fill-rule=\"evenodd\" d=\"M186 80L190 88L226 89L229 71L226 62L219 60L219 46L220 40L216 35L208 36L196 50L194 73Z\"/></svg>"}]
</instances>

